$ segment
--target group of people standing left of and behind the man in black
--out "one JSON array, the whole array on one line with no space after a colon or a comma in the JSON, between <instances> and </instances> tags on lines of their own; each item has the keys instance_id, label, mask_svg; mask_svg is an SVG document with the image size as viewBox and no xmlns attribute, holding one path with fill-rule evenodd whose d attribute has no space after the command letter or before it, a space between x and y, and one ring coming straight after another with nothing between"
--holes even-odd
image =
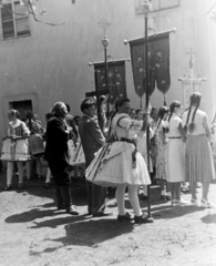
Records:
<instances>
[{"instance_id":1,"label":"group of people standing left of and behind the man in black","mask_svg":"<svg viewBox=\"0 0 216 266\"><path fill-rule=\"evenodd\" d=\"M68 110L70 106L66 104ZM53 116L52 112L45 114L45 121ZM18 187L23 188L24 172L27 180L32 177L42 178L42 161L44 158L45 127L42 126L38 115L32 111L25 113L25 117L20 120L17 110L10 110L8 113L9 127L3 137L1 160L7 161L7 186L4 191L12 190L12 176L14 173L19 176ZM73 125L71 139L74 143L78 141L78 124L80 116L73 117L66 115L68 124ZM48 167L45 177L45 188L51 187L51 171Z\"/></svg>"}]
</instances>

